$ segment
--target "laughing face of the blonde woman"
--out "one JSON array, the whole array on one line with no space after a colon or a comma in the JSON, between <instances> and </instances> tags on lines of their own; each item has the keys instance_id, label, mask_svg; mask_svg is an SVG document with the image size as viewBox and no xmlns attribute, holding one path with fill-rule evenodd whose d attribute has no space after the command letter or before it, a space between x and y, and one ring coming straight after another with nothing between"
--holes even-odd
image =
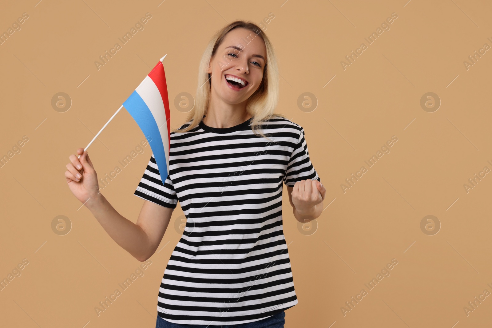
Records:
<instances>
[{"instance_id":1,"label":"laughing face of the blonde woman","mask_svg":"<svg viewBox=\"0 0 492 328\"><path fill-rule=\"evenodd\" d=\"M261 84L266 59L265 43L255 32L231 30L210 60L207 72L211 74L211 96L229 104L246 101ZM227 80L232 77L244 81L245 86Z\"/></svg>"}]
</instances>

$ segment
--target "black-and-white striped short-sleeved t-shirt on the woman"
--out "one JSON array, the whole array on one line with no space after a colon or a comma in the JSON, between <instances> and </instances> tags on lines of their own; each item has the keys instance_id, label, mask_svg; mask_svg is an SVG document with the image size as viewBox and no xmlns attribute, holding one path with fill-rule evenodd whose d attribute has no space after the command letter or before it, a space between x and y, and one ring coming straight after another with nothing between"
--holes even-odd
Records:
<instances>
[{"instance_id":1,"label":"black-and-white striped short-sleeved t-shirt on the woman","mask_svg":"<svg viewBox=\"0 0 492 328\"><path fill-rule=\"evenodd\" d=\"M318 180L304 129L288 119L171 132L169 176L151 156L135 195L186 216L164 270L157 314L176 324L236 325L297 304L282 226L282 183ZM180 127L189 125L190 121ZM171 224L170 224L171 226Z\"/></svg>"}]
</instances>

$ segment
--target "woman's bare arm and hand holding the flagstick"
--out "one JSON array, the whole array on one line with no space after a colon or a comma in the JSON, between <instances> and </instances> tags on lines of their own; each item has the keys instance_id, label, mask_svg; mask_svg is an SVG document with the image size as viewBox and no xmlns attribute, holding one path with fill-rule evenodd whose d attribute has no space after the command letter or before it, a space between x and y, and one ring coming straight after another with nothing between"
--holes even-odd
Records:
<instances>
[{"instance_id":1,"label":"woman's bare arm and hand holding the flagstick","mask_svg":"<svg viewBox=\"0 0 492 328\"><path fill-rule=\"evenodd\" d=\"M137 223L124 218L99 192L97 174L83 148L70 155L65 178L72 193L94 215L108 235L137 260L149 259L159 246L174 209L145 201ZM81 169L76 167L81 166ZM77 173L81 175L79 178Z\"/></svg>"}]
</instances>

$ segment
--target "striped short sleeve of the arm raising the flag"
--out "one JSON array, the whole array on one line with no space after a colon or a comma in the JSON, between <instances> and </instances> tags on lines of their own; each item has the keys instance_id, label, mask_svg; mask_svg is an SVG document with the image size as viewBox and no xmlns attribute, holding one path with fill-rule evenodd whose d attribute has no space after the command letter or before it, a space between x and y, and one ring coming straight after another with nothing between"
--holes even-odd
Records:
<instances>
[{"instance_id":1,"label":"striped short sleeve of the arm raising the flag","mask_svg":"<svg viewBox=\"0 0 492 328\"><path fill-rule=\"evenodd\" d=\"M169 176L164 181L164 184L162 183L154 154L152 154L144 175L133 194L149 202L171 209L175 209L178 204L178 197Z\"/></svg>"}]
</instances>

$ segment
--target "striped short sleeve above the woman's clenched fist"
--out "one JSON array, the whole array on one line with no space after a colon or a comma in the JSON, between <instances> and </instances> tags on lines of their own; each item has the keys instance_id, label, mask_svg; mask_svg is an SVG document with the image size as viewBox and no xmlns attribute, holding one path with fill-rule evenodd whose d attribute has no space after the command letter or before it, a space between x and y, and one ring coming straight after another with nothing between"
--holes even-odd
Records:
<instances>
[{"instance_id":1,"label":"striped short sleeve above the woman's clenched fist","mask_svg":"<svg viewBox=\"0 0 492 328\"><path fill-rule=\"evenodd\" d=\"M292 187L297 181L306 179L321 181L309 159L304 128L301 127L301 135L290 155L283 182L286 186Z\"/></svg>"}]
</instances>

